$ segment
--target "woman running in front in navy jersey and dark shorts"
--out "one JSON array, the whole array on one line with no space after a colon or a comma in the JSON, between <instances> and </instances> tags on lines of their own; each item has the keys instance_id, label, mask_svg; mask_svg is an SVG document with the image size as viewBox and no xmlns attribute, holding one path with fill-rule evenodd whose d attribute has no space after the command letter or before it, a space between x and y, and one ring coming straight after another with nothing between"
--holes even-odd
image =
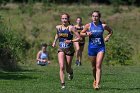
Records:
<instances>
[{"instance_id":1,"label":"woman running in front in navy jersey and dark shorts","mask_svg":"<svg viewBox=\"0 0 140 93\"><path fill-rule=\"evenodd\" d=\"M59 49L58 49L58 61L60 66L60 81L61 88L65 88L64 81L64 70L66 64L66 71L68 73L68 79L73 78L73 69L71 68L72 59L74 56L73 42L78 42L80 40L80 35L76 31L75 27L70 24L70 16L67 13L61 15L62 25L57 25L57 33L55 35L53 47L56 46L56 41L59 39ZM73 39L73 34L77 38Z\"/></svg>"}]
</instances>

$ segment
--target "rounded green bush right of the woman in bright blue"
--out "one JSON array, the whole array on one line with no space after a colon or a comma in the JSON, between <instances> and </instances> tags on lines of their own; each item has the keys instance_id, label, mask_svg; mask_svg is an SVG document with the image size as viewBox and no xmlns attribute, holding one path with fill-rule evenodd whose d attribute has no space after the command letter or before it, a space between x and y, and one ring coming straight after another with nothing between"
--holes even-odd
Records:
<instances>
[{"instance_id":1,"label":"rounded green bush right of the woman in bright blue","mask_svg":"<svg viewBox=\"0 0 140 93\"><path fill-rule=\"evenodd\" d=\"M131 60L133 48L125 36L117 34L112 36L110 42L106 44L107 52L105 61L107 64L128 64L127 61Z\"/></svg>"}]
</instances>

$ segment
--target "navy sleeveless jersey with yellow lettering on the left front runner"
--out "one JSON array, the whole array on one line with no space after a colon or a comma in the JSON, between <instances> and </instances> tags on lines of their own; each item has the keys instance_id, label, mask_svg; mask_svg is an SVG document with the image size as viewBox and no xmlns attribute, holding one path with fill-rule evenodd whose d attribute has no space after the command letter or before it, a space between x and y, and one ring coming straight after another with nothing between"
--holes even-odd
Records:
<instances>
[{"instance_id":1,"label":"navy sleeveless jersey with yellow lettering on the left front runner","mask_svg":"<svg viewBox=\"0 0 140 93\"><path fill-rule=\"evenodd\" d=\"M65 40L72 40L73 35L69 31L69 27L67 29L62 30L62 26L60 29L57 31L58 37L59 37L59 47L60 48L70 48L73 43L65 43Z\"/></svg>"}]
</instances>

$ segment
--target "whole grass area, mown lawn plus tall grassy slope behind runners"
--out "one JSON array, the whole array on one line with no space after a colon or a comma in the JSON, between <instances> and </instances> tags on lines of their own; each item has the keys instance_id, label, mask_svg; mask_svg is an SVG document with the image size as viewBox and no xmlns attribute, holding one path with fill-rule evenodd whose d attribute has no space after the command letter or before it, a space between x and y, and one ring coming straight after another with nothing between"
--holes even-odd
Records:
<instances>
[{"instance_id":1,"label":"whole grass area, mown lawn plus tall grassy slope behind runners","mask_svg":"<svg viewBox=\"0 0 140 93\"><path fill-rule=\"evenodd\" d=\"M128 38L134 47L133 66L120 66L118 64L107 66L104 64L102 88L95 91L92 87L93 77L90 63L88 63L86 42L83 54L83 62L85 63L81 67L76 67L73 64L74 79L68 81L66 76L66 89L61 90L57 49L50 48L50 50L54 50L51 52L53 55L52 64L41 67L33 63L38 51L36 45L42 41L47 43L53 41L56 32L55 26L60 23L59 15L62 12L68 12L72 16L72 23L75 23L77 16L81 16L85 24L90 22L88 14L94 9L100 10L103 14L103 20L109 21L114 36L119 34L121 36L118 37ZM0 93L140 93L140 8L122 6L120 12L113 11L114 7L107 5L43 7L42 4L35 4L33 7L30 5L22 7L18 4L8 4L1 8L0 16L4 19L4 23L8 28L25 37L30 42L31 48L27 53L28 61L21 65L22 70L6 72L0 69ZM36 38L33 35L34 30L39 33Z\"/></svg>"}]
</instances>

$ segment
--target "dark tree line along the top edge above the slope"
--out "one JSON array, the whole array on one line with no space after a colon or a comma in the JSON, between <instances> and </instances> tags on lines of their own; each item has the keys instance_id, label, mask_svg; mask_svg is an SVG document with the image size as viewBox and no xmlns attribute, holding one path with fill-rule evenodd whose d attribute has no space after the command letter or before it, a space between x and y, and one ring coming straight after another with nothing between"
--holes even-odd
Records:
<instances>
[{"instance_id":1,"label":"dark tree line along the top edge above the slope","mask_svg":"<svg viewBox=\"0 0 140 93\"><path fill-rule=\"evenodd\" d=\"M54 3L54 4L91 4L91 3L99 3L99 4L117 4L117 5L140 5L140 0L0 0L0 4L5 3Z\"/></svg>"}]
</instances>

